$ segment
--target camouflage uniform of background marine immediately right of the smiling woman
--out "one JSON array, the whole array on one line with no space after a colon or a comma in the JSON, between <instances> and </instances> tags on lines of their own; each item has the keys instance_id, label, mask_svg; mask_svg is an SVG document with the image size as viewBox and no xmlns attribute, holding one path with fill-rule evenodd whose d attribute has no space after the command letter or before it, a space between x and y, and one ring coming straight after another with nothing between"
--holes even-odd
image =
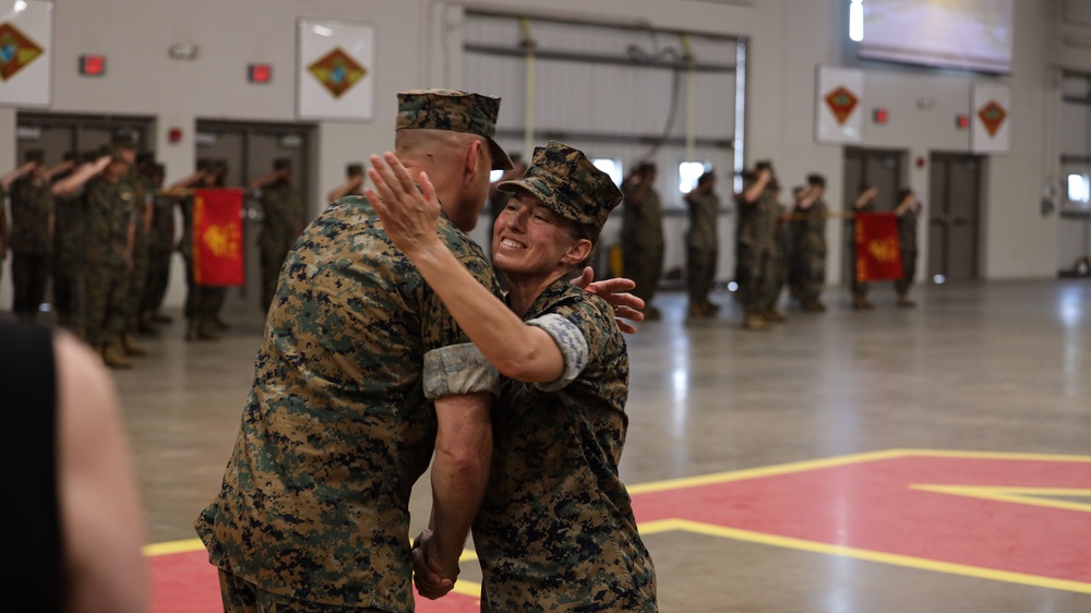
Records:
<instances>
[{"instance_id":1,"label":"camouflage uniform of background marine immediately right of the smiling woman","mask_svg":"<svg viewBox=\"0 0 1091 613\"><path fill-rule=\"evenodd\" d=\"M636 281L633 293L650 304L663 272L663 213L659 192L649 187L640 202L632 200L633 191L625 184L622 192L625 195L621 226L624 276Z\"/></svg>"}]
</instances>

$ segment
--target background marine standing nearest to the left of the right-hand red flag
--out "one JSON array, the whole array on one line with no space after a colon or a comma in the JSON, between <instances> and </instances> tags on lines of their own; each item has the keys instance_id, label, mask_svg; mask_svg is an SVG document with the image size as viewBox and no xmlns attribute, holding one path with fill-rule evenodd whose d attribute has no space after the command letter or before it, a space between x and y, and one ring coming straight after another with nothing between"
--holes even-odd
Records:
<instances>
[{"instance_id":1,"label":"background marine standing nearest to the left of the right-hand red flag","mask_svg":"<svg viewBox=\"0 0 1091 613\"><path fill-rule=\"evenodd\" d=\"M819 300L826 287L826 216L829 208L823 194L826 178L807 177L807 187L793 208L792 279L795 298L804 311L820 313L826 305Z\"/></svg>"}]
</instances>

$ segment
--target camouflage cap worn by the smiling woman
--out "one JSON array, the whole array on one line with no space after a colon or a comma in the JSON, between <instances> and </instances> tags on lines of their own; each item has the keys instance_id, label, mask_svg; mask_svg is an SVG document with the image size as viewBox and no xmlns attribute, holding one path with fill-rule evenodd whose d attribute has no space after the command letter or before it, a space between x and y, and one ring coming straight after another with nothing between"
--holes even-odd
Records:
<instances>
[{"instance_id":1,"label":"camouflage cap worn by the smiling woman","mask_svg":"<svg viewBox=\"0 0 1091 613\"><path fill-rule=\"evenodd\" d=\"M523 179L504 181L497 188L505 192L526 190L561 217L600 229L623 197L613 179L583 152L556 141L535 147Z\"/></svg>"}]
</instances>

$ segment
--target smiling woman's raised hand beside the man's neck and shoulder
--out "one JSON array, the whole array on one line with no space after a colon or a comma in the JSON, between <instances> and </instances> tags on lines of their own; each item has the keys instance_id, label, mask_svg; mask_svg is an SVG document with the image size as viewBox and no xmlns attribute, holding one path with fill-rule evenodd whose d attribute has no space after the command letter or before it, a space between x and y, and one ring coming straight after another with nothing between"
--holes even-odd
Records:
<instances>
[{"instance_id":1,"label":"smiling woman's raised hand beside the man's neck and shoulder","mask_svg":"<svg viewBox=\"0 0 1091 613\"><path fill-rule=\"evenodd\" d=\"M440 201L428 175L421 172L418 177L421 188L418 190L395 154L386 152L383 157L373 155L369 159L368 177L375 187L365 189L363 194L375 207L394 244L410 255L442 245L436 233Z\"/></svg>"}]
</instances>

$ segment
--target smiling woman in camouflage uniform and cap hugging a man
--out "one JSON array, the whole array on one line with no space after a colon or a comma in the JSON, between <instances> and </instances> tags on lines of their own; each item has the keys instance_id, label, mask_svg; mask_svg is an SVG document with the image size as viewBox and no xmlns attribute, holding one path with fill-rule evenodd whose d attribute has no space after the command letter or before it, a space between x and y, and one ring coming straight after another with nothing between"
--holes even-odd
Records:
<instances>
[{"instance_id":1,"label":"smiling woman in camouflage uniform and cap hugging a man","mask_svg":"<svg viewBox=\"0 0 1091 613\"><path fill-rule=\"evenodd\" d=\"M570 277L622 194L583 153L539 147L493 227L507 308L439 241L440 205L397 159L372 158L369 190L387 233L506 378L493 409L493 462L473 524L482 611L658 611L656 574L618 476L628 418L628 352L608 303ZM395 194L395 189L397 194ZM514 313L513 313L514 311ZM626 314L624 310L620 314ZM521 318L520 318L521 317ZM417 587L446 593L415 550Z\"/></svg>"}]
</instances>

